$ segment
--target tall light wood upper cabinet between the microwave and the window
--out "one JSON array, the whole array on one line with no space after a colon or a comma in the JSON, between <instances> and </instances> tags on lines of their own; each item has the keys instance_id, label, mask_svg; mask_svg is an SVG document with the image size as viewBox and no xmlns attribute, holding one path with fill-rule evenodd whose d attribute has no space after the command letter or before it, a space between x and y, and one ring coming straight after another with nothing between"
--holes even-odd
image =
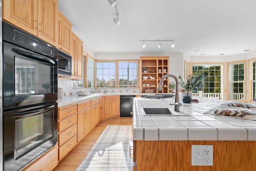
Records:
<instances>
[{"instance_id":1,"label":"tall light wood upper cabinet between the microwave and the window","mask_svg":"<svg viewBox=\"0 0 256 171\"><path fill-rule=\"evenodd\" d=\"M83 78L83 41L72 32L71 34L72 78Z\"/></svg>"}]
</instances>

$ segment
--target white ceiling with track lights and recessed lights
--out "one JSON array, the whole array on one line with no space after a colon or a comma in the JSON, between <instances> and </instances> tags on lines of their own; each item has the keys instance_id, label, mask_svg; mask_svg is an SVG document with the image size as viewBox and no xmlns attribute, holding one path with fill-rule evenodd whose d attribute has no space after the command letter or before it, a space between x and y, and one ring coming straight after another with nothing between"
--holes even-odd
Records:
<instances>
[{"instance_id":1,"label":"white ceiling with track lights and recessed lights","mask_svg":"<svg viewBox=\"0 0 256 171\"><path fill-rule=\"evenodd\" d=\"M118 26L108 0L59 0L58 6L95 53L226 56L256 50L256 0L116 0ZM139 41L155 39L173 39L175 47L145 42L142 48Z\"/></svg>"}]
</instances>

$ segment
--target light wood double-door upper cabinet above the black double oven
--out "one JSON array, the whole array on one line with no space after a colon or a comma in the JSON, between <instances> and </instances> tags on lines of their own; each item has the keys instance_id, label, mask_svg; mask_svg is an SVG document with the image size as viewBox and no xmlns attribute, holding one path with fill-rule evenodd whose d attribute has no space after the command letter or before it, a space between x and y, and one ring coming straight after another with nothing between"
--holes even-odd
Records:
<instances>
[{"instance_id":1,"label":"light wood double-door upper cabinet above the black double oven","mask_svg":"<svg viewBox=\"0 0 256 171\"><path fill-rule=\"evenodd\" d=\"M3 20L57 46L58 0L2 0Z\"/></svg>"}]
</instances>

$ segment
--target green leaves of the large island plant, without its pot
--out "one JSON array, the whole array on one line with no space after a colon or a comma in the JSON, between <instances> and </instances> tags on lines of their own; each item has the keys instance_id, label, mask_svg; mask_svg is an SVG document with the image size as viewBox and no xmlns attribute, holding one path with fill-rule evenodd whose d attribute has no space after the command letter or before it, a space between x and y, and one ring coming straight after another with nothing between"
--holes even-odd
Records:
<instances>
[{"instance_id":1,"label":"green leaves of the large island plant, without its pot","mask_svg":"<svg viewBox=\"0 0 256 171\"><path fill-rule=\"evenodd\" d=\"M196 89L201 83L202 81L200 80L202 76L192 76L191 74L189 76L186 77L185 80L183 80L182 76L179 75L179 79L180 79L180 86L185 89L187 95L188 93L194 89Z\"/></svg>"}]
</instances>

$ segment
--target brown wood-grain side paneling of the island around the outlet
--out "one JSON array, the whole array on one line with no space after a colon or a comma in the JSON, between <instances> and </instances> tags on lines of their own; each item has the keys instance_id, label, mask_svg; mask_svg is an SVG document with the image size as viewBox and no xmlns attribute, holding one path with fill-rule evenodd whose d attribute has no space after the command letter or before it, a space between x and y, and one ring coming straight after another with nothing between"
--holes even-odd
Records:
<instances>
[{"instance_id":1,"label":"brown wood-grain side paneling of the island around the outlet","mask_svg":"<svg viewBox=\"0 0 256 171\"><path fill-rule=\"evenodd\" d=\"M252 171L256 168L256 141L136 143L137 171ZM213 145L213 166L192 166L191 145Z\"/></svg>"}]
</instances>

